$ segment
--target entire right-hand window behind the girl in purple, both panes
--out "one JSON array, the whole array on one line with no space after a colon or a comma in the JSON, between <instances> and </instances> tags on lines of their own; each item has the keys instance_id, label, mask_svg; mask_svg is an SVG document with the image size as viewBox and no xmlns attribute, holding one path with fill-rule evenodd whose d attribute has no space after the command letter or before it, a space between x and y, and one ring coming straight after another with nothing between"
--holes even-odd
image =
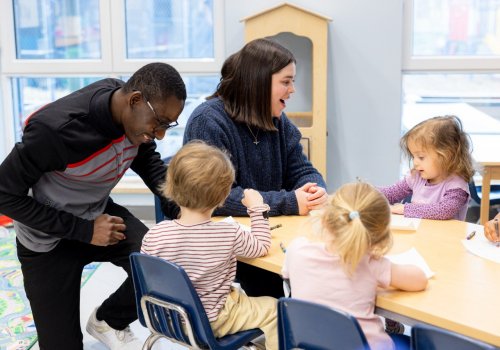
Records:
<instances>
[{"instance_id":1,"label":"entire right-hand window behind the girl in purple, both panes","mask_svg":"<svg viewBox=\"0 0 500 350\"><path fill-rule=\"evenodd\" d=\"M481 161L500 149L500 0L404 4L402 132L457 115Z\"/></svg>"}]
</instances>

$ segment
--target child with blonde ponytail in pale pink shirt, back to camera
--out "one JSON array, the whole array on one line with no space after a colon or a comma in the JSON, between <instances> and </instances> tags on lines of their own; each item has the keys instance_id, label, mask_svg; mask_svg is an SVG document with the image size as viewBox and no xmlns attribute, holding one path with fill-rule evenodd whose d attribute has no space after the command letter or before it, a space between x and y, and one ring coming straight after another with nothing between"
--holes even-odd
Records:
<instances>
[{"instance_id":1,"label":"child with blonde ponytail in pale pink shirt, back to camera","mask_svg":"<svg viewBox=\"0 0 500 350\"><path fill-rule=\"evenodd\" d=\"M421 291L427 286L425 274L416 266L395 265L383 257L392 245L390 208L375 187L346 184L329 202L321 217L321 239L292 241L282 275L290 280L293 298L352 314L371 349L394 349L374 314L377 288ZM402 343L398 348L409 348L408 337L394 339Z\"/></svg>"}]
</instances>

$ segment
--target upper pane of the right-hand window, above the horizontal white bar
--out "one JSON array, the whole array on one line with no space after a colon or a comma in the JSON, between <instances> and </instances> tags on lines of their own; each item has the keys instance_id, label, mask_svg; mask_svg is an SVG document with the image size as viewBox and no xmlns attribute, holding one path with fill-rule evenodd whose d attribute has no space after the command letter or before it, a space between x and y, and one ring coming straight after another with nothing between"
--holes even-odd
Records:
<instances>
[{"instance_id":1,"label":"upper pane of the right-hand window, above the horizontal white bar","mask_svg":"<svg viewBox=\"0 0 500 350\"><path fill-rule=\"evenodd\" d=\"M498 70L500 0L406 0L404 69Z\"/></svg>"}]
</instances>

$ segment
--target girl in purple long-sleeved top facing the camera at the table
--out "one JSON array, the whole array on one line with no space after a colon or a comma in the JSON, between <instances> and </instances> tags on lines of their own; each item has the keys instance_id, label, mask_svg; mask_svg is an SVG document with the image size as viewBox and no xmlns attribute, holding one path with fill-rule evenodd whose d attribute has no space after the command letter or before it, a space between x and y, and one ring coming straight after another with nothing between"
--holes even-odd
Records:
<instances>
[{"instance_id":1,"label":"girl in purple long-sleeved top facing the camera at the table","mask_svg":"<svg viewBox=\"0 0 500 350\"><path fill-rule=\"evenodd\" d=\"M396 184L379 188L393 204L391 211L412 218L464 220L474 167L460 119L424 120L403 136L401 148L413 168ZM410 195L411 203L399 203Z\"/></svg>"}]
</instances>

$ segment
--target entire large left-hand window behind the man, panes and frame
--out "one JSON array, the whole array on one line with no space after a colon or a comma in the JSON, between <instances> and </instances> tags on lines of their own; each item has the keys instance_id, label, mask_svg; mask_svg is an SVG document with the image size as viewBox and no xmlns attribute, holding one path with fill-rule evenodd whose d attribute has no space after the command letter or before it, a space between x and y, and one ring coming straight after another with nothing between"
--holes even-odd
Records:
<instances>
[{"instance_id":1,"label":"entire large left-hand window behind the man, panes and frame","mask_svg":"<svg viewBox=\"0 0 500 350\"><path fill-rule=\"evenodd\" d=\"M179 70L188 92L180 127L159 142L162 156L172 155L189 113L219 81L222 11L222 0L1 1L0 106L13 116L3 120L5 152L20 139L26 117L46 103L163 61Z\"/></svg>"}]
</instances>

